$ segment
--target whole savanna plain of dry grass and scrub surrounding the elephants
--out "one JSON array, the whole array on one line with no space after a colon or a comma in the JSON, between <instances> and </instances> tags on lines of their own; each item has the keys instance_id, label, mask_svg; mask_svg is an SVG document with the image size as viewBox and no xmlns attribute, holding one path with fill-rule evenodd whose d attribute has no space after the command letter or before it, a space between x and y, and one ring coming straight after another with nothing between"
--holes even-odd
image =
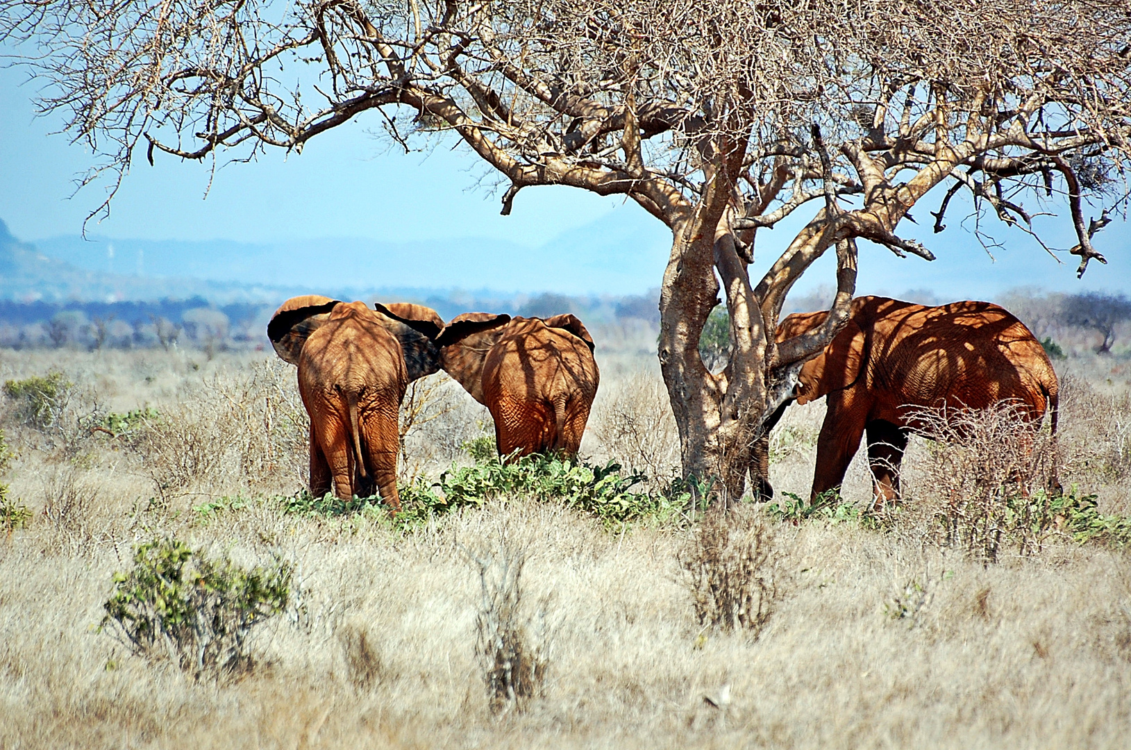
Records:
<instances>
[{"instance_id":1,"label":"whole savanna plain of dry grass and scrub surrounding the elephants","mask_svg":"<svg viewBox=\"0 0 1131 750\"><path fill-rule=\"evenodd\" d=\"M703 512L672 481L655 331L595 338L582 457L647 479L612 509L494 482L490 415L439 373L403 408L397 520L303 495L269 352L0 350L0 748L1128 747L1125 354L1056 362L1053 460L1091 515L978 536L961 446L914 439L897 509L867 512L861 456L806 506L820 403L772 436L776 505ZM285 571L211 669L199 622L178 646L107 615L172 540Z\"/></svg>"}]
</instances>

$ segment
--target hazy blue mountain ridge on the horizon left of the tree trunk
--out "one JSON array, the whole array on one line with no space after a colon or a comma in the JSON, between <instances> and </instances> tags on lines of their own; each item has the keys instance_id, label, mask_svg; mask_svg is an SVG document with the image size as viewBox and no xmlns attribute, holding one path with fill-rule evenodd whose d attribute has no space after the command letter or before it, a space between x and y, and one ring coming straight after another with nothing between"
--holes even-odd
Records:
<instances>
[{"instance_id":1,"label":"hazy blue mountain ridge on the horizon left of the tree trunk","mask_svg":"<svg viewBox=\"0 0 1131 750\"><path fill-rule=\"evenodd\" d=\"M499 293L638 294L659 283L671 235L642 212L615 212L530 248L466 238L271 243L58 236L51 258L103 274L329 290L493 290ZM637 214L640 214L639 216Z\"/></svg>"}]
</instances>

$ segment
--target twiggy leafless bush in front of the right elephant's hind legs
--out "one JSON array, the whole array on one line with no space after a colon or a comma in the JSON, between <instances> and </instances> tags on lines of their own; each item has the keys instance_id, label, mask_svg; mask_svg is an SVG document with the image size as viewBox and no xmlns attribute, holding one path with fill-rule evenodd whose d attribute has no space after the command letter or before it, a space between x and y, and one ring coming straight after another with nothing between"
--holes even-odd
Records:
<instances>
[{"instance_id":1,"label":"twiggy leafless bush in front of the right elephant's hind legs","mask_svg":"<svg viewBox=\"0 0 1131 750\"><path fill-rule=\"evenodd\" d=\"M922 491L935 503L940 542L983 562L995 562L1009 546L1021 555L1038 552L1053 528L1047 497L1056 463L1042 424L1013 402L920 408L912 419L935 441L920 472Z\"/></svg>"}]
</instances>

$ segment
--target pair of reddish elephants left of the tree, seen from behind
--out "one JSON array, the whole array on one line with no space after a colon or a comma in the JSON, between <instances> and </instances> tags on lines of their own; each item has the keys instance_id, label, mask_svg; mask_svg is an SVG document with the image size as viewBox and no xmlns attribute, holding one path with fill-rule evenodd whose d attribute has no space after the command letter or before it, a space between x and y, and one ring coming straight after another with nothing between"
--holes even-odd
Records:
<instances>
[{"instance_id":1,"label":"pair of reddish elephants left of the tree, seen from behind","mask_svg":"<svg viewBox=\"0 0 1131 750\"><path fill-rule=\"evenodd\" d=\"M397 413L408 383L443 369L495 424L499 451L576 454L599 372L589 331L571 314L469 312L443 319L420 304L366 307L320 295L287 300L267 325L299 368L310 415L310 491L343 499L377 490L396 511Z\"/></svg>"}]
</instances>

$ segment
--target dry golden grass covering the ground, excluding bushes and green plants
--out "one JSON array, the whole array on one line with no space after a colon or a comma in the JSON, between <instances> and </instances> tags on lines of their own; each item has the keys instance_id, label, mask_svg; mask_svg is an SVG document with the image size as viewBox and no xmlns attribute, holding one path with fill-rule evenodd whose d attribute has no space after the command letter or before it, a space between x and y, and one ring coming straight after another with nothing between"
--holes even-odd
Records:
<instances>
[{"instance_id":1,"label":"dry golden grass covering the ground, excluding bushes and green plants","mask_svg":"<svg viewBox=\"0 0 1131 750\"><path fill-rule=\"evenodd\" d=\"M624 378L656 378L650 362L631 362L603 369L585 443L595 456L634 449L597 429L618 393L633 391ZM727 632L700 624L681 569L694 528L608 533L521 498L411 532L284 514L262 498L299 489L305 458L302 425L286 423L299 419L294 373L274 361L0 352L0 379L52 365L86 394L76 397L86 412L149 405L218 456L163 493L159 476L183 456L146 429L84 433L79 407L58 434L5 422L19 454L9 497L35 517L0 536L0 748L1123 748L1131 736L1125 553L1061 543L984 567L914 534L769 523L759 544L780 592L757 637ZM1090 387L1115 414L1119 403L1103 400L1115 389ZM1093 414L1115 424L1100 439L1077 423L1091 408L1085 396L1065 390L1069 448L1111 452L1117 420ZM457 396L409 450L478 433L482 414ZM624 411L648 424L658 406L644 403ZM792 432L775 433L779 491L808 492L820 420L819 405L794 408L783 422ZM674 425L657 424L649 460L663 466ZM451 434L418 471L457 455ZM908 456L913 495L925 450L916 442ZM1076 479L1115 506L1128 474L1110 464L1081 465ZM867 497L866 467L848 480L846 497ZM247 505L192 510L235 494ZM95 631L112 574L155 535L243 564L294 564L293 604L253 635L247 678L197 682ZM525 553L519 621L545 660L525 712L492 710L476 655L476 558L504 549Z\"/></svg>"}]
</instances>

